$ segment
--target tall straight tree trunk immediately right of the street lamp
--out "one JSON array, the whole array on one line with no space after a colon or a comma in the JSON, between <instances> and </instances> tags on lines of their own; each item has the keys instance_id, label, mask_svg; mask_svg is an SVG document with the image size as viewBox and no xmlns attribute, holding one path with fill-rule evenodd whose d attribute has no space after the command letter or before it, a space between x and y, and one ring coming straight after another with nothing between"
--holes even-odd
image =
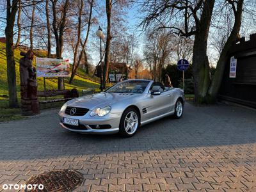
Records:
<instances>
[{"instance_id":1,"label":"tall straight tree trunk immediately right of the street lamp","mask_svg":"<svg viewBox=\"0 0 256 192\"><path fill-rule=\"evenodd\" d=\"M108 80L108 70L109 70L109 52L111 44L111 0L106 0L106 15L108 20L107 27L107 40L105 49L105 59L104 59L104 70L103 70L103 88L106 89L106 81Z\"/></svg>"}]
</instances>

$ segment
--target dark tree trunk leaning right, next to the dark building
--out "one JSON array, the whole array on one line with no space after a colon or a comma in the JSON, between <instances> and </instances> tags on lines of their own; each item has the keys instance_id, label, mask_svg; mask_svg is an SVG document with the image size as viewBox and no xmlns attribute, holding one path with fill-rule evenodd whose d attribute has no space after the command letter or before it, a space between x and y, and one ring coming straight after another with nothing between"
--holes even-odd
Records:
<instances>
[{"instance_id":1,"label":"dark tree trunk leaning right, next to the dark building","mask_svg":"<svg viewBox=\"0 0 256 192\"><path fill-rule=\"evenodd\" d=\"M225 65L227 61L229 60L228 57L228 51L232 47L232 44L234 42L237 42L240 38L239 36L239 31L241 28L241 19L242 19L242 13L243 13L243 1L244 0L239 0L237 3L237 10L234 10L234 15L235 15L235 22L233 29L228 36L228 40L225 43L223 50L221 51L220 58L218 60L216 70L214 73L214 77L212 78L211 86L209 88L209 97L208 97L208 102L214 103L216 102L218 92L220 90L221 86L221 81L223 79L223 74L225 70Z\"/></svg>"}]
</instances>

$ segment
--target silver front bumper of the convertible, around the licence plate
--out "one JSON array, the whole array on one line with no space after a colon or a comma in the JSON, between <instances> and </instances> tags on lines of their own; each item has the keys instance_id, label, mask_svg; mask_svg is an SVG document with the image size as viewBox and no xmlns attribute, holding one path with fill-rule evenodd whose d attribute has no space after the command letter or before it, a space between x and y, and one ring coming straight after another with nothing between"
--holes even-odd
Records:
<instances>
[{"instance_id":1,"label":"silver front bumper of the convertible, around the licence plate","mask_svg":"<svg viewBox=\"0 0 256 192\"><path fill-rule=\"evenodd\" d=\"M88 118L88 116L70 116L65 113L59 113L60 125L64 129L72 132L79 132L84 134L115 134L119 131L120 115L111 115L106 118ZM63 124L63 118L72 118L79 120L79 126L70 126ZM91 126L90 126L91 125ZM93 129L92 125L110 125L108 129Z\"/></svg>"}]
</instances>

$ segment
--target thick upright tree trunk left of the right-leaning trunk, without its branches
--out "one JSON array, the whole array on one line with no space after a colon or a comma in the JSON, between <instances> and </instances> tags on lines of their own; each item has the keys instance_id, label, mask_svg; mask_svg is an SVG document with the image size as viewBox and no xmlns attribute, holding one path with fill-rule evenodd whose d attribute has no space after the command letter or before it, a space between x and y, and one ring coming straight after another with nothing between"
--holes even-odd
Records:
<instances>
[{"instance_id":1,"label":"thick upright tree trunk left of the right-leaning trunk, without its branches","mask_svg":"<svg viewBox=\"0 0 256 192\"><path fill-rule=\"evenodd\" d=\"M196 26L193 46L193 72L195 77L195 102L206 102L206 95L210 84L209 61L207 57L207 40L211 24L212 10L215 0L204 2L204 8L199 24Z\"/></svg>"}]
</instances>

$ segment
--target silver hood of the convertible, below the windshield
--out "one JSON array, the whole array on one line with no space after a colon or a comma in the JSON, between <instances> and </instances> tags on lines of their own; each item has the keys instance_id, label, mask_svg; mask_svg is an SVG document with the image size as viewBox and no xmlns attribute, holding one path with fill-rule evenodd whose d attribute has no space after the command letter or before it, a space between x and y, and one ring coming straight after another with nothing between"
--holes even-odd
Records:
<instances>
[{"instance_id":1,"label":"silver hood of the convertible, below the windshield","mask_svg":"<svg viewBox=\"0 0 256 192\"><path fill-rule=\"evenodd\" d=\"M77 107L77 108L104 108L105 106L111 106L115 102L120 102L124 99L131 99L136 97L136 93L107 93L101 92L93 95L87 95L84 97L79 97L77 99L72 99L67 102L67 106Z\"/></svg>"}]
</instances>

